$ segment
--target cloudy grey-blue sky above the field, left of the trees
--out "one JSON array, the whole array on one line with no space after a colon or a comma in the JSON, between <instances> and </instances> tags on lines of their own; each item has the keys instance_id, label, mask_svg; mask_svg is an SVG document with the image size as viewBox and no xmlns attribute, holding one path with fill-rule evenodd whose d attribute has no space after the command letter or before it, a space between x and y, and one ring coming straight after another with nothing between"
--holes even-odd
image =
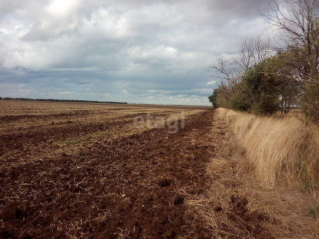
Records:
<instances>
[{"instance_id":1,"label":"cloudy grey-blue sky above the field, left of the trees","mask_svg":"<svg viewBox=\"0 0 319 239\"><path fill-rule=\"evenodd\" d=\"M0 0L0 97L210 105L268 0Z\"/></svg>"}]
</instances>

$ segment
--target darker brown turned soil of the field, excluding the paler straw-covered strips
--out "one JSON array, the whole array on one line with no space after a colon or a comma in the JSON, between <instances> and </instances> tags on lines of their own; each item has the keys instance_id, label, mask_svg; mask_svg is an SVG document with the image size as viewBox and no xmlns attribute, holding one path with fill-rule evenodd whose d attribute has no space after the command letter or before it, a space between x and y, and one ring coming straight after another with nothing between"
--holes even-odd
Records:
<instances>
[{"instance_id":1,"label":"darker brown turned soil of the field, excluding the paler straw-covered strips","mask_svg":"<svg viewBox=\"0 0 319 239\"><path fill-rule=\"evenodd\" d=\"M2 168L0 238L210 238L184 202L206 187L205 164L212 149L204 135L213 114L192 115L184 128L178 122L176 133L153 128L129 136L99 137L60 146L60 151L52 148L55 153L47 152L32 163ZM123 127L127 123L122 121ZM74 127L73 133L85 135L100 127L105 130L110 125L88 122ZM55 129L45 136L38 131L32 138L40 142L54 139L54 134L72 134L67 127ZM16 145L14 140L3 136L1 143L7 149ZM27 140L21 137L18 143ZM50 146L56 145L46 144L42 155ZM28 157L36 152L27 149L16 148Z\"/></svg>"}]
</instances>

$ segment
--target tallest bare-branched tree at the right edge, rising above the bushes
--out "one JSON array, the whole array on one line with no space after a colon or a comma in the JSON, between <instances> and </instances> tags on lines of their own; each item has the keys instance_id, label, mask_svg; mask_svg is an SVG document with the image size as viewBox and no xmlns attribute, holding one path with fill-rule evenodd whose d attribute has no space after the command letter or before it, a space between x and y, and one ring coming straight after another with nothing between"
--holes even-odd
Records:
<instances>
[{"instance_id":1,"label":"tallest bare-branched tree at the right edge, rising above the bushes","mask_svg":"<svg viewBox=\"0 0 319 239\"><path fill-rule=\"evenodd\" d=\"M319 0L271 0L261 15L277 30L278 49L292 56L289 79L303 88L305 112L319 119Z\"/></svg>"}]
</instances>

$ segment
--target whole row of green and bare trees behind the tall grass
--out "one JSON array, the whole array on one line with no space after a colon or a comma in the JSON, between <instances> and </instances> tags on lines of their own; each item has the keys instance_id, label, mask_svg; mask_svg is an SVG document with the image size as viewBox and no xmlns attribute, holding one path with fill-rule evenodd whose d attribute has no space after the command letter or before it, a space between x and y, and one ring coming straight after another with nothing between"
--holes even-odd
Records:
<instances>
[{"instance_id":1,"label":"whole row of green and bare trees behind the tall grass","mask_svg":"<svg viewBox=\"0 0 319 239\"><path fill-rule=\"evenodd\" d=\"M257 115L300 107L319 122L319 0L270 1L259 12L276 31L243 40L236 57L221 55L210 66L219 79L212 105Z\"/></svg>"}]
</instances>

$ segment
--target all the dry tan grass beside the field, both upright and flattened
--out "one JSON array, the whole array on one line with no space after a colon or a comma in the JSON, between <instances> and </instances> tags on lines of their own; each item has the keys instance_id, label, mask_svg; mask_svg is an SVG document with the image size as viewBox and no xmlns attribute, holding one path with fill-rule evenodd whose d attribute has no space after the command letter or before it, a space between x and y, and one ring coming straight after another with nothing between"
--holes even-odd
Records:
<instances>
[{"instance_id":1,"label":"all the dry tan grass beside the field, both upright and flattened","mask_svg":"<svg viewBox=\"0 0 319 239\"><path fill-rule=\"evenodd\" d=\"M187 201L215 237L319 238L318 128L295 117L256 117L226 109L217 115L219 126L211 133L226 135L207 166L211 187L201 198ZM229 218L236 207L233 195L248 201L238 220ZM253 222L253 215L266 220ZM245 221L247 217L251 219Z\"/></svg>"}]
</instances>

